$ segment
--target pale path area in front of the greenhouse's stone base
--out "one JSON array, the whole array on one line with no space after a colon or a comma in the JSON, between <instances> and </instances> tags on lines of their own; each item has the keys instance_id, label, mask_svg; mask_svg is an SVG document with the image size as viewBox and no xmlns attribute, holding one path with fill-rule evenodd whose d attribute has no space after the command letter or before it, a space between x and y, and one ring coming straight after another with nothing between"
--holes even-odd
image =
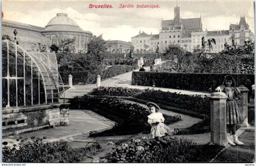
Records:
<instances>
[{"instance_id":1,"label":"pale path area in front of the greenhouse's stone base","mask_svg":"<svg viewBox=\"0 0 256 166\"><path fill-rule=\"evenodd\" d=\"M88 137L90 131L104 131L112 128L115 122L106 119L90 110L69 110L69 125L56 126L44 130L17 134L3 137L3 140L13 142L18 137L47 137L49 141L72 140L72 137L85 134Z\"/></svg>"}]
</instances>

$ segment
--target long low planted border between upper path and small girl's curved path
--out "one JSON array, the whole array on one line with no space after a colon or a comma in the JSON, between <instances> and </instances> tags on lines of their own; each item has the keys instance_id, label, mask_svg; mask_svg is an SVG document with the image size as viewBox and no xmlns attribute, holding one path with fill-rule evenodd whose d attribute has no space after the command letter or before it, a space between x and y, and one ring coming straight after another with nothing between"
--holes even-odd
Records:
<instances>
[{"instance_id":1,"label":"long low planted border between upper path and small girl's curved path","mask_svg":"<svg viewBox=\"0 0 256 166\"><path fill-rule=\"evenodd\" d=\"M148 101L155 102L159 105L176 108L181 114L188 114L193 117L203 118L204 115L210 117L210 99L202 98L199 95L185 95L171 92L163 92L154 89L129 89L121 87L101 87L93 89L90 95L112 95L120 97L129 97L139 103L146 103ZM179 108L179 109L177 109Z\"/></svg>"}]
</instances>

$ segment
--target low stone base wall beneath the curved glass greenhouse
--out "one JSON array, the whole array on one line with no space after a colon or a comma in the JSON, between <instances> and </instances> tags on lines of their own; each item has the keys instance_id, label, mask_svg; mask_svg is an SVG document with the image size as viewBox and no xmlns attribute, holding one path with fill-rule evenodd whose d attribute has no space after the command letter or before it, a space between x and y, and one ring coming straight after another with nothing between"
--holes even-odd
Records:
<instances>
[{"instance_id":1,"label":"low stone base wall beneath the curved glass greenhouse","mask_svg":"<svg viewBox=\"0 0 256 166\"><path fill-rule=\"evenodd\" d=\"M2 109L2 135L69 125L69 103Z\"/></svg>"}]
</instances>

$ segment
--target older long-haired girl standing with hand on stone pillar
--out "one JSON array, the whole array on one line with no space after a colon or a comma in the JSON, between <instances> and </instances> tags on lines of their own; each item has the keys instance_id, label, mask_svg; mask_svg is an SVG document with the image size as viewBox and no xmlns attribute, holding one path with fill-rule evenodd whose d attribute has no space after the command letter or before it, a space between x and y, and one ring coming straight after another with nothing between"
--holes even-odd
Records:
<instances>
[{"instance_id":1,"label":"older long-haired girl standing with hand on stone pillar","mask_svg":"<svg viewBox=\"0 0 256 166\"><path fill-rule=\"evenodd\" d=\"M227 75L222 85L216 88L216 91L223 91L228 97L226 102L227 142L233 146L244 145L236 136L236 125L242 122L242 117L235 102L235 98L241 93L240 89L236 88L235 79L231 75ZM230 132L233 140L230 139Z\"/></svg>"}]
</instances>

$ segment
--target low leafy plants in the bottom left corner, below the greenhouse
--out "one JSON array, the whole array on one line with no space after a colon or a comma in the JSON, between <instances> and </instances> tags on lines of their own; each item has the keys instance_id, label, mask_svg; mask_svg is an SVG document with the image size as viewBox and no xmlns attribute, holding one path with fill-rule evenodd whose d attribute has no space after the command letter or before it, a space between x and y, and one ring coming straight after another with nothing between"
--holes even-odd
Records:
<instances>
[{"instance_id":1,"label":"low leafy plants in the bottom left corner, below the greenhouse","mask_svg":"<svg viewBox=\"0 0 256 166\"><path fill-rule=\"evenodd\" d=\"M2 148L4 162L79 162L85 159L85 148L72 149L68 142L44 143L43 139L21 140L20 147Z\"/></svg>"}]
</instances>

